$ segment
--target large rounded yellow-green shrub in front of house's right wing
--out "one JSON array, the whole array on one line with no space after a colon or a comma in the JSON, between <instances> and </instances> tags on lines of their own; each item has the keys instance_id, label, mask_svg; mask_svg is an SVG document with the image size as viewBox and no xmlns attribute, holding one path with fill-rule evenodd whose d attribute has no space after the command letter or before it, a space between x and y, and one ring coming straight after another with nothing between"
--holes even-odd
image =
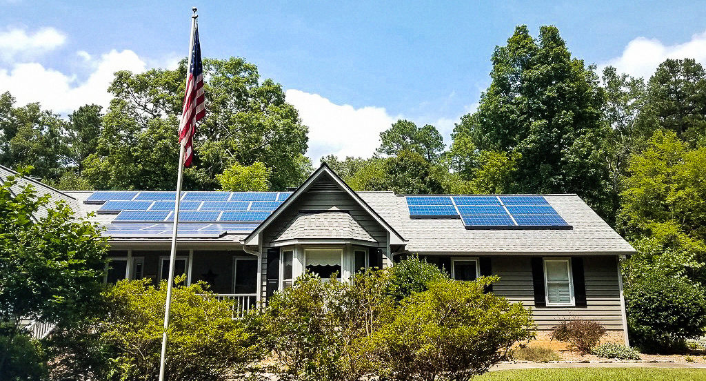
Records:
<instances>
[{"instance_id":1,"label":"large rounded yellow-green shrub in front of house's right wing","mask_svg":"<svg viewBox=\"0 0 706 381\"><path fill-rule=\"evenodd\" d=\"M391 380L469 380L500 361L517 341L534 337L521 303L484 293L497 277L429 283L402 300L371 336L381 376Z\"/></svg>"}]
</instances>

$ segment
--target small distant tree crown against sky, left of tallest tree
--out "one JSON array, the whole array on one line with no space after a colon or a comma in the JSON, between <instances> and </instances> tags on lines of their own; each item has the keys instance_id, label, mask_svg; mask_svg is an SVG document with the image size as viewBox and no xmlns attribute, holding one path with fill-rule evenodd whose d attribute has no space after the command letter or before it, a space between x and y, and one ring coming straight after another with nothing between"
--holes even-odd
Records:
<instances>
[{"instance_id":1,"label":"small distant tree crown against sky, left of tallest tree","mask_svg":"<svg viewBox=\"0 0 706 381\"><path fill-rule=\"evenodd\" d=\"M380 139L378 153L395 156L402 151L412 151L424 156L429 162L438 159L444 148L443 137L436 127L426 124L419 128L417 124L402 119L382 131Z\"/></svg>"}]
</instances>

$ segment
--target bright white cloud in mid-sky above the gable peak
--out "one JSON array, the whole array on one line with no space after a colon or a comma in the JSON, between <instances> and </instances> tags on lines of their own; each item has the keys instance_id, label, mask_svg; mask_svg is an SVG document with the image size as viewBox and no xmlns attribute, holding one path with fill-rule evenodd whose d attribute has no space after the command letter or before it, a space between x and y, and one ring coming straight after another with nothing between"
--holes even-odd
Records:
<instances>
[{"instance_id":1,"label":"bright white cloud in mid-sky above the gable peak","mask_svg":"<svg viewBox=\"0 0 706 381\"><path fill-rule=\"evenodd\" d=\"M383 107L354 108L336 105L318 94L287 90L287 102L299 110L299 117L309 127L309 156L318 164L321 156L333 153L345 156L371 156L380 146L380 133L402 119L389 115Z\"/></svg>"}]
</instances>

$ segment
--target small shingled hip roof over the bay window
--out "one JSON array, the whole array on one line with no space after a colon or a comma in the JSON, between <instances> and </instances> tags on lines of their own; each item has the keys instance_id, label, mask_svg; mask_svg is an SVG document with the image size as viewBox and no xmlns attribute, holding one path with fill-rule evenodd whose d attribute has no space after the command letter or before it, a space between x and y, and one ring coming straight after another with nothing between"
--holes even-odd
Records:
<instances>
[{"instance_id":1,"label":"small shingled hip roof over the bay window","mask_svg":"<svg viewBox=\"0 0 706 381\"><path fill-rule=\"evenodd\" d=\"M322 211L299 213L289 222L276 241L301 239L342 239L376 242L349 213Z\"/></svg>"}]
</instances>

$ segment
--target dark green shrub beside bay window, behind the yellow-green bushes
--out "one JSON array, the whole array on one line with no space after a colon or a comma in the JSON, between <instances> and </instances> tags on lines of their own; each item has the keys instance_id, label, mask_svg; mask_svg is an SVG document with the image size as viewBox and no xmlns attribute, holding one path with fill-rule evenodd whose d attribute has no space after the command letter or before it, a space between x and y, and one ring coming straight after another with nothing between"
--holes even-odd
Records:
<instances>
[{"instance_id":1,"label":"dark green shrub beside bay window, behind the yellow-green bushes","mask_svg":"<svg viewBox=\"0 0 706 381\"><path fill-rule=\"evenodd\" d=\"M388 269L389 283L387 294L400 301L413 293L426 291L427 284L448 279L445 272L436 265L427 263L419 257L409 257Z\"/></svg>"}]
</instances>

